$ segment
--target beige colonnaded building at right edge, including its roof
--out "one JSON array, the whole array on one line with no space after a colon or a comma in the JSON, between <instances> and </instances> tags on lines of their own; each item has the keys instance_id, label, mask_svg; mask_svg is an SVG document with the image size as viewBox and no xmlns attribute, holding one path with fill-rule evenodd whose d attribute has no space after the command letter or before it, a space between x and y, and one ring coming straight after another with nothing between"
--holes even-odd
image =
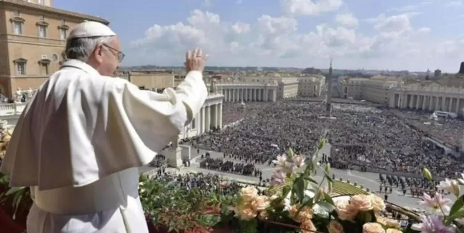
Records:
<instances>
[{"instance_id":1,"label":"beige colonnaded building at right edge, including its roof","mask_svg":"<svg viewBox=\"0 0 464 233\"><path fill-rule=\"evenodd\" d=\"M461 114L464 89L461 87L411 84L390 90L391 108L447 111Z\"/></svg>"}]
</instances>

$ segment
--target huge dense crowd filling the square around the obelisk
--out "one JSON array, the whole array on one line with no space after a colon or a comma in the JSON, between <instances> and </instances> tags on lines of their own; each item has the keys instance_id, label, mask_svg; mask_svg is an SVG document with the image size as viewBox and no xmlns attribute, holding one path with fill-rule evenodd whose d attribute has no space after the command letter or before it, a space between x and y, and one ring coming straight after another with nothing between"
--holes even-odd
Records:
<instances>
[{"instance_id":1,"label":"huge dense crowd filling the square around the obelisk","mask_svg":"<svg viewBox=\"0 0 464 233\"><path fill-rule=\"evenodd\" d=\"M311 156L316 141L329 129L334 166L415 174L425 166L440 177L454 177L462 171L456 159L431 147L423 133L412 130L407 119L397 117L393 110L334 104L335 118L328 118L322 117L323 104L302 101L259 103L253 110L255 114L236 126L202 135L193 144L264 164L290 147Z\"/></svg>"}]
</instances>

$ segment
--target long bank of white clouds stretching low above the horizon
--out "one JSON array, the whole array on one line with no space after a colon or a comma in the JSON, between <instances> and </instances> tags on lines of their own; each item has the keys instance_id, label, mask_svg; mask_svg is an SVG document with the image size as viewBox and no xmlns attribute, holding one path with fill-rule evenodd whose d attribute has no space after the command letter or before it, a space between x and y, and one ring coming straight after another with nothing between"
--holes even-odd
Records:
<instances>
[{"instance_id":1,"label":"long bank of white clouds stretching low above the horizon","mask_svg":"<svg viewBox=\"0 0 464 233\"><path fill-rule=\"evenodd\" d=\"M211 65L221 66L326 67L333 57L345 68L418 70L449 63L442 61L444 57L463 56L459 52L464 39L432 41L424 36L430 28L413 26L412 13L365 19L368 24L363 27L372 29L369 35L347 27L354 20L347 23L343 18L349 17L335 17L339 26L327 23L302 31L296 18L289 16L226 22L213 12L194 10L183 22L151 26L132 46L139 62L166 65L182 64L185 50L197 46L210 54Z\"/></svg>"}]
</instances>

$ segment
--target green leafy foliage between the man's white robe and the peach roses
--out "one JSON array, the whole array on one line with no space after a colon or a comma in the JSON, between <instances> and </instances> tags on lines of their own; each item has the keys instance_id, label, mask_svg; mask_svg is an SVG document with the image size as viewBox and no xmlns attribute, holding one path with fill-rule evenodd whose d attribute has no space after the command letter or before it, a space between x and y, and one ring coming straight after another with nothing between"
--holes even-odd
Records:
<instances>
[{"instance_id":1,"label":"green leafy foliage between the man's white robe and the peach roses","mask_svg":"<svg viewBox=\"0 0 464 233\"><path fill-rule=\"evenodd\" d=\"M200 189L187 190L177 183L154 180L142 175L140 200L145 215L168 231L204 230L230 215L229 206L237 200Z\"/></svg>"}]
</instances>

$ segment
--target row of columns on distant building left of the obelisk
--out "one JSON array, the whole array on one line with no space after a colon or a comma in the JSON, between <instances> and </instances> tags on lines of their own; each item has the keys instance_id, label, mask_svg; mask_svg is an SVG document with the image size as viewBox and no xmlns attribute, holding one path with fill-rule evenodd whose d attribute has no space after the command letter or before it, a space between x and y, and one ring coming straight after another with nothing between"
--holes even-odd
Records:
<instances>
[{"instance_id":1,"label":"row of columns on distant building left of the obelisk","mask_svg":"<svg viewBox=\"0 0 464 233\"><path fill-rule=\"evenodd\" d=\"M251 87L222 87L225 102L240 101L276 101L277 93L274 88L251 88Z\"/></svg>"}]
</instances>

